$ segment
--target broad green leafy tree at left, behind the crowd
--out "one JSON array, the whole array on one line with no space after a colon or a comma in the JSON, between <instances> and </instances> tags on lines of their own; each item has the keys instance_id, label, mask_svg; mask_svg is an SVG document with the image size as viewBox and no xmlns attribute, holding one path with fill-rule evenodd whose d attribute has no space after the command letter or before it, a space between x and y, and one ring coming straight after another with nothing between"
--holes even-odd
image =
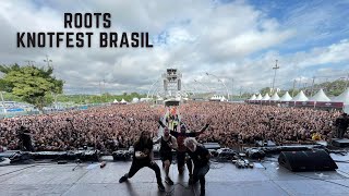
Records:
<instances>
[{"instance_id":1,"label":"broad green leafy tree at left, behind the crowd","mask_svg":"<svg viewBox=\"0 0 349 196\"><path fill-rule=\"evenodd\" d=\"M40 111L52 103L52 94L61 94L63 81L52 76L52 68L0 65L4 76L0 79L0 90L12 93L22 100L34 105Z\"/></svg>"}]
</instances>

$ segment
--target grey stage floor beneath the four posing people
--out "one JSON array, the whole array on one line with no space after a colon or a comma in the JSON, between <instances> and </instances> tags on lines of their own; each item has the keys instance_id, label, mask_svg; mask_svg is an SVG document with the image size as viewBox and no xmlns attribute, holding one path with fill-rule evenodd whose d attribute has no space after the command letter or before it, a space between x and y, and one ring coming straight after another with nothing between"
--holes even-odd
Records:
<instances>
[{"instance_id":1,"label":"grey stage floor beneath the four posing people","mask_svg":"<svg viewBox=\"0 0 349 196\"><path fill-rule=\"evenodd\" d=\"M349 160L349 156L332 155L335 160ZM161 168L159 161L157 161ZM207 196L231 195L349 195L349 164L339 162L333 172L293 173L278 166L277 157L262 162L262 168L238 169L230 162L213 163L206 175ZM83 163L37 163L0 167L0 195L176 195L200 194L200 185L188 187L188 172L178 175L177 164L171 166L174 185L166 185L167 193L157 188L155 173L142 169L128 182L119 179L128 172L131 161ZM164 171L163 176L164 176ZM341 184L341 185L339 185Z\"/></svg>"}]
</instances>

